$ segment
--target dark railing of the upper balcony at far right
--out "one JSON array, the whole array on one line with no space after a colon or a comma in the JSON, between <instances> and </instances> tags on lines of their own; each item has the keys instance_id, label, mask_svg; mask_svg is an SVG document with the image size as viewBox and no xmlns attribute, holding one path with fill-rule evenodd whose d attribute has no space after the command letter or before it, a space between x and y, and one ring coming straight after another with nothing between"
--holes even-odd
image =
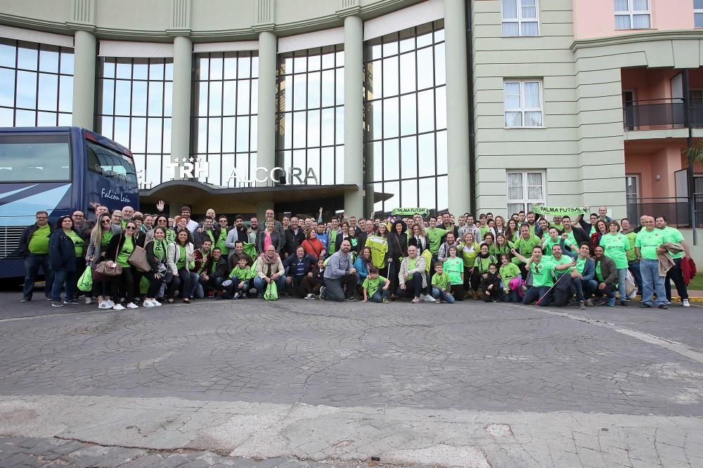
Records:
<instances>
[{"instance_id":1,"label":"dark railing of the upper balcony at far right","mask_svg":"<svg viewBox=\"0 0 703 468\"><path fill-rule=\"evenodd\" d=\"M685 117L683 99L649 99L623 105L623 121L628 131L687 128ZM692 127L703 127L703 103L693 102L689 119Z\"/></svg>"}]
</instances>

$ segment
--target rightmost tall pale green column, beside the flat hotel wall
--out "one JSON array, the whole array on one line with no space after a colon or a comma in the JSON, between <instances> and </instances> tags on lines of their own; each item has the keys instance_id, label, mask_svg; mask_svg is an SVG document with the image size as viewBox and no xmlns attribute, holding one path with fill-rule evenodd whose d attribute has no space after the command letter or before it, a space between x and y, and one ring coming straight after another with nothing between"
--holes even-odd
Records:
<instances>
[{"instance_id":1,"label":"rightmost tall pale green column, beside the flat hotel wall","mask_svg":"<svg viewBox=\"0 0 703 468\"><path fill-rule=\"evenodd\" d=\"M465 3L465 0L444 0L446 162L450 168L449 212L456 216L469 210L473 191L469 182L473 154L469 147Z\"/></svg>"}]
</instances>

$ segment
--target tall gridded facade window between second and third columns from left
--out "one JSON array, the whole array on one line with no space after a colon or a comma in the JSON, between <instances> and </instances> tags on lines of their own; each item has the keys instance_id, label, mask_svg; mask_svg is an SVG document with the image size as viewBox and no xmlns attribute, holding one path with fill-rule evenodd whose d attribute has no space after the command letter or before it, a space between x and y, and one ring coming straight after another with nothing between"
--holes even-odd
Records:
<instances>
[{"instance_id":1,"label":"tall gridded facade window between second and third columns from left","mask_svg":"<svg viewBox=\"0 0 703 468\"><path fill-rule=\"evenodd\" d=\"M192 96L191 156L208 164L209 176L200 182L233 186L233 168L251 180L257 167L257 53L196 54Z\"/></svg>"}]
</instances>

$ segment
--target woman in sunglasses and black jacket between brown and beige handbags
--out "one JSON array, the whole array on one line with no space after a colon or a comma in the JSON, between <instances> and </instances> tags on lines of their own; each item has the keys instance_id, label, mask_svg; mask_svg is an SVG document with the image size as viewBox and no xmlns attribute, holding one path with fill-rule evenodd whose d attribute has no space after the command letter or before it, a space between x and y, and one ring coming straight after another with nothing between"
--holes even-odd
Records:
<instances>
[{"instance_id":1,"label":"woman in sunglasses and black jacket between brown and beige handbags","mask_svg":"<svg viewBox=\"0 0 703 468\"><path fill-rule=\"evenodd\" d=\"M112 279L112 297L115 299L114 310L124 310L124 305L120 303L120 293L124 295L124 301L127 302L127 309L138 309L138 305L134 303L134 269L129 265L129 256L134 252L136 240L134 233L136 225L134 222L127 222L124 227L124 232L119 236L112 236L108 248L105 249L105 261L108 268L117 268L122 272Z\"/></svg>"}]
</instances>

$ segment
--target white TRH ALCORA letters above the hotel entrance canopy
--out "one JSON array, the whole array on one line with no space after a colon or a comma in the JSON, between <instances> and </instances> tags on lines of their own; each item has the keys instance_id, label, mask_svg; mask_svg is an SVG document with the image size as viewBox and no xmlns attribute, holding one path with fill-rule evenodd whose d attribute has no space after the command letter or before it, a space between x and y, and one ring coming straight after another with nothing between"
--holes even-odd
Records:
<instances>
[{"instance_id":1,"label":"white TRH ALCORA letters above the hotel entrance canopy","mask_svg":"<svg viewBox=\"0 0 703 468\"><path fill-rule=\"evenodd\" d=\"M209 177L209 165L207 161L201 158L183 158L175 159L175 162L167 164L166 167L169 169L170 179L197 179L202 177ZM307 168L303 171L302 168L282 168L276 166L275 168L264 168L257 167L254 170L254 177L247 178L247 175L240 175L237 168L233 168L227 180L234 180L234 183L254 183L259 182L259 184L265 184L266 182L280 182L280 179L284 178L285 183L291 184L293 180L296 180L299 184L307 185L308 180L314 181L315 184L319 184L320 180L313 168Z\"/></svg>"}]
</instances>

